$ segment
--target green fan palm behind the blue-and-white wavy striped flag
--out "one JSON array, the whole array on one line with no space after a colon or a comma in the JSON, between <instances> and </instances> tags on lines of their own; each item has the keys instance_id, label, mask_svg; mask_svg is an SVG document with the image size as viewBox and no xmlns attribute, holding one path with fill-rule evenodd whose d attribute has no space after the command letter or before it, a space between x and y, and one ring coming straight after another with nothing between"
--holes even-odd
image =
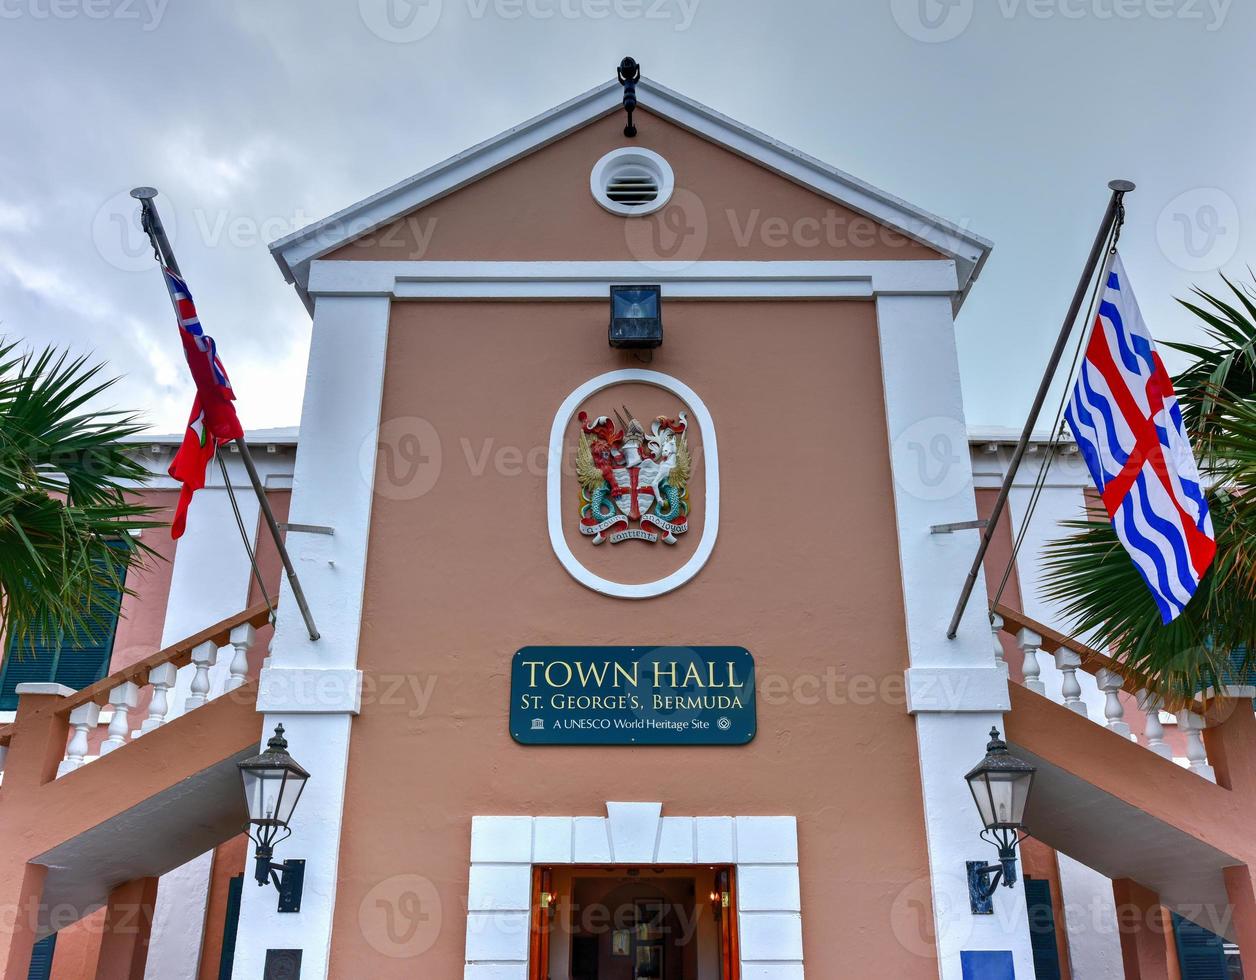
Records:
<instances>
[{"instance_id":1,"label":"green fan palm behind the blue-and-white wavy striped flag","mask_svg":"<svg viewBox=\"0 0 1256 980\"><path fill-rule=\"evenodd\" d=\"M1256 304L1222 276L1233 299L1194 289L1179 300L1211 346L1169 344L1194 363L1174 379L1202 469L1217 534L1212 568L1186 611L1159 611L1107 515L1066 521L1048 545L1046 594L1075 632L1090 633L1134 671L1181 694L1246 673L1256 652Z\"/></svg>"}]
</instances>

